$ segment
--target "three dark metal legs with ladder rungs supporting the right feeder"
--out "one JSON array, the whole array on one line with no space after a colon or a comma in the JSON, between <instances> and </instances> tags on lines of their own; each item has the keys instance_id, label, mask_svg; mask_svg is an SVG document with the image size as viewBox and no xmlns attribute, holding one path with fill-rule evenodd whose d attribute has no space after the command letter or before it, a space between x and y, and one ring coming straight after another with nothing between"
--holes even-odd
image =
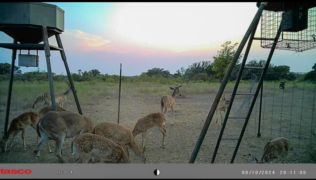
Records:
<instances>
[{"instance_id":1,"label":"three dark metal legs with ladder rungs supporting the right feeder","mask_svg":"<svg viewBox=\"0 0 316 180\"><path fill-rule=\"evenodd\" d=\"M224 121L223 121L222 129L221 129L221 132L220 132L220 134L218 136L216 147L215 147L215 150L214 150L214 153L213 153L213 157L212 157L212 160L211 160L211 163L214 163L214 160L215 160L216 155L217 155L217 150L218 150L222 140L233 140L233 141L238 140L237 145L235 146L234 154L233 154L232 159L230 161L230 163L234 163L234 159L235 159L237 151L239 149L240 142L241 142L241 140L243 138L244 132L246 130L247 123L248 123L250 115L252 113L252 109L253 109L253 107L255 105L255 102L256 102L256 99L258 97L259 91L260 91L261 86L263 84L263 80L264 80L265 74L266 74L266 72L267 72L267 70L269 68L269 64L270 64L270 61L272 59L272 55L273 55L274 50L276 48L276 44L277 44L278 39L279 39L279 37L281 35L282 23L279 26L279 29L278 29L278 31L276 33L276 37L274 39L271 39L271 40L273 40L273 45L271 47L269 56L268 56L268 58L266 60L266 64L265 64L264 67L247 67L247 66L245 66L246 65L246 60L247 60L247 57L248 57L248 54L249 54L249 51L250 51L250 48L251 48L251 45L252 45L252 41L253 40L262 40L262 38L254 37L254 34L256 32L260 16L261 16L261 13L262 13L263 9L265 8L265 5L266 4L261 3L257 14L255 15L255 17L254 17L254 19L252 21L252 24L249 26L245 37L243 38L242 42L240 43L240 46L238 47L238 49L237 49L237 51L236 51L236 53L234 55L234 58L232 59L230 65L228 67L226 75L224 76L224 79L222 81L221 87L218 90L216 98L215 98L215 100L214 100L214 102L212 104L210 113L209 113L209 115L207 117L207 120L205 121L204 127L203 127L203 129L201 131L201 134L200 134L200 137L197 140L195 148L193 149L193 152L192 152L192 155L191 155L189 163L194 163L194 161L195 161L197 153L198 153L198 151L199 151L199 149L200 149L200 147L202 145L203 139L204 139L205 134L207 132L207 129L208 129L209 125L210 125L210 121L213 118L213 115L214 115L214 112L215 112L216 107L218 105L219 99L221 98L222 93L224 91L224 88L225 88L225 86L226 86L226 84L228 82L228 77L230 76L230 73L231 73L231 71L233 70L233 68L234 68L234 66L236 64L237 59L240 56L241 50L243 49L243 47L246 44L247 39L249 38L249 41L248 41L248 44L247 44L247 48L246 48L246 51L245 51L245 55L243 57L243 60L242 60L241 66L240 66L240 70L239 70L239 73L238 73L238 77L237 77L237 80L235 82L235 86L234 86L234 90L233 90L233 93L232 93L232 97L230 98L230 102L228 104L227 112L226 112L226 115L225 115L225 118L224 118ZM241 75L243 73L243 70L245 70L245 69L257 69L257 70L260 69L260 70L262 70L262 74L260 76L260 79L259 79L259 82L258 82L258 87L256 88L255 93L238 93L237 92L238 86L239 86L239 83L240 83L240 80L241 80ZM253 96L251 104L250 104L250 107L249 107L249 110L247 112L247 115L245 117L232 117L232 116L229 116L230 110L232 108L232 104L234 103L235 96L240 96L240 95L241 96L243 96L243 95ZM223 132L225 130L227 121L228 120L236 120L236 119L244 119L245 120L244 121L244 125L243 125L243 127L241 129L239 137L233 137L233 138L232 137L230 137L230 138L229 137L225 137L225 138L223 138Z\"/></svg>"}]
</instances>

